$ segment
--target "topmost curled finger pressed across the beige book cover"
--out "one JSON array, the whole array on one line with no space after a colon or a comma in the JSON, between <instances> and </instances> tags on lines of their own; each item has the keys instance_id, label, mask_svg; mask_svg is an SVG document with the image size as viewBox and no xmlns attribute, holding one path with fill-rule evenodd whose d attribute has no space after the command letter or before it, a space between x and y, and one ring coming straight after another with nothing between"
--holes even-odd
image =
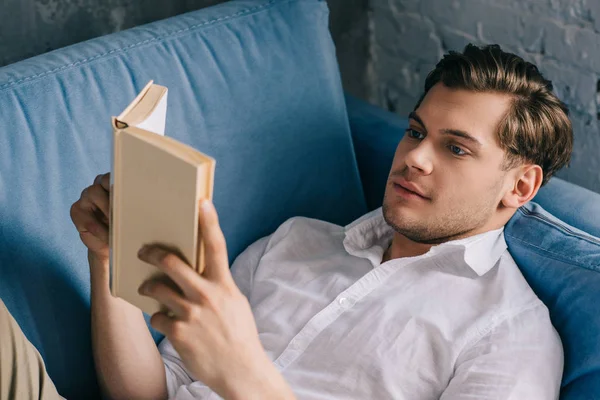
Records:
<instances>
[{"instance_id":1,"label":"topmost curled finger pressed across the beige book cover","mask_svg":"<svg viewBox=\"0 0 600 400\"><path fill-rule=\"evenodd\" d=\"M138 257L167 274L188 299L196 301L214 296L214 288L210 282L172 251L158 245L148 245L140 249Z\"/></svg>"}]
</instances>

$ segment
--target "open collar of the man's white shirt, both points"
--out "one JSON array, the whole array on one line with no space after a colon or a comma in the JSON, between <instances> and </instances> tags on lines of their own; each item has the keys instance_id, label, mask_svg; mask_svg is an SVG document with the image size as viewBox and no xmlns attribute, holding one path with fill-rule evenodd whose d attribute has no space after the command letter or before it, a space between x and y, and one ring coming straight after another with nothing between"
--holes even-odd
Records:
<instances>
[{"instance_id":1,"label":"open collar of the man's white shirt, both points","mask_svg":"<svg viewBox=\"0 0 600 400\"><path fill-rule=\"evenodd\" d=\"M374 267L381 264L383 253L394 236L394 230L383 218L381 207L358 218L347 225L344 230L346 251L354 256L368 259ZM432 246L427 253L419 257L458 253L459 259L481 276L496 265L506 248L504 227L502 227Z\"/></svg>"}]
</instances>

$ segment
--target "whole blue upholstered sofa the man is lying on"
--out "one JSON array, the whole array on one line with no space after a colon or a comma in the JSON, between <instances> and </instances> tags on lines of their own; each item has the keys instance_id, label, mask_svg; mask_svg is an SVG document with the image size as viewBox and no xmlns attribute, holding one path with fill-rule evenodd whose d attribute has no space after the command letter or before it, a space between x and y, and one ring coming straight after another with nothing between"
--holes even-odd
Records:
<instances>
[{"instance_id":1,"label":"whole blue upholstered sofa the man is lying on","mask_svg":"<svg viewBox=\"0 0 600 400\"><path fill-rule=\"evenodd\" d=\"M318 0L231 1L0 68L0 298L69 399L99 398L69 209L110 170L110 117L150 79L169 88L167 135L217 160L231 260L289 217L379 207L406 127L344 95ZM553 178L534 201L509 250L563 340L561 397L598 398L600 195Z\"/></svg>"}]
</instances>

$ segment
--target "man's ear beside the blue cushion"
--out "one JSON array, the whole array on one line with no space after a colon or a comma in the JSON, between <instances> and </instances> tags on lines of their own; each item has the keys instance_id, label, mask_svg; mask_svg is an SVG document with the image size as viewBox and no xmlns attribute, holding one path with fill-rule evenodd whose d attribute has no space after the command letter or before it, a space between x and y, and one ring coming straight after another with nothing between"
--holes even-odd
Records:
<instances>
[{"instance_id":1,"label":"man's ear beside the blue cushion","mask_svg":"<svg viewBox=\"0 0 600 400\"><path fill-rule=\"evenodd\" d=\"M502 198L502 204L508 208L519 208L533 199L542 186L544 172L539 165L527 164L515 168L511 187Z\"/></svg>"}]
</instances>

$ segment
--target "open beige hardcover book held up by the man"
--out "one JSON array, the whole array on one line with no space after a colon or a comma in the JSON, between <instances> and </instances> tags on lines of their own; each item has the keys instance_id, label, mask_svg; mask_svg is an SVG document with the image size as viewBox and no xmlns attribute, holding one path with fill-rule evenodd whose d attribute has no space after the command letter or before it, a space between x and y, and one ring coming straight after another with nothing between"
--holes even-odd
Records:
<instances>
[{"instance_id":1,"label":"open beige hardcover book held up by the man","mask_svg":"<svg viewBox=\"0 0 600 400\"><path fill-rule=\"evenodd\" d=\"M138 288L150 277L165 275L141 261L138 250L144 244L164 245L202 273L199 204L212 199L215 170L213 158L164 136L166 113L167 88L150 81L121 115L112 118L111 291L148 314L164 308L139 295Z\"/></svg>"}]
</instances>

